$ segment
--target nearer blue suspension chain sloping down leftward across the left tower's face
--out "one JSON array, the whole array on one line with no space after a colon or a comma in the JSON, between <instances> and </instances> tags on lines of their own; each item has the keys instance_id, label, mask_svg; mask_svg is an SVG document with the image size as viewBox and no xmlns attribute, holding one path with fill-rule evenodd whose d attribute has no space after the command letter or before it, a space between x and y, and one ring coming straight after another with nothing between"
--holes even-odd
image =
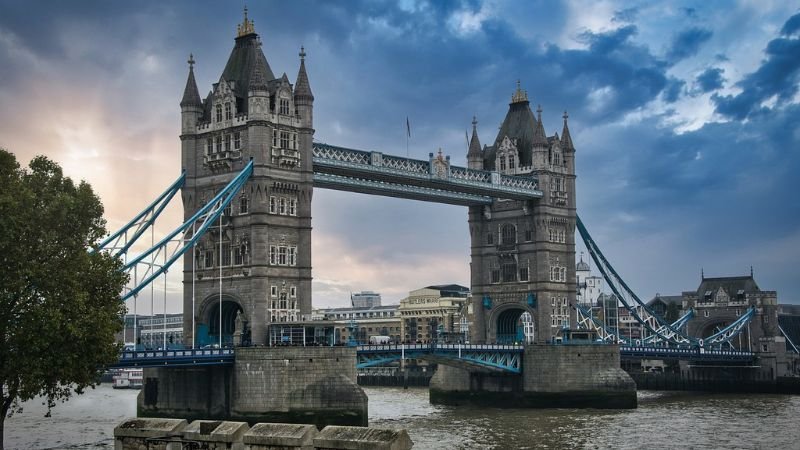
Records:
<instances>
[{"instance_id":1,"label":"nearer blue suspension chain sloping down leftward across the left tower's face","mask_svg":"<svg viewBox=\"0 0 800 450\"><path fill-rule=\"evenodd\" d=\"M253 161L250 161L211 201L200 208L186 222L178 226L152 248L128 262L124 270L128 273L133 272L133 287L122 296L122 300L133 297L158 276L166 273L178 258L192 248L197 240L219 218L222 211L239 193L252 173ZM163 262L159 264L160 259L163 259ZM142 273L135 271L138 265L143 266Z\"/></svg>"}]
</instances>

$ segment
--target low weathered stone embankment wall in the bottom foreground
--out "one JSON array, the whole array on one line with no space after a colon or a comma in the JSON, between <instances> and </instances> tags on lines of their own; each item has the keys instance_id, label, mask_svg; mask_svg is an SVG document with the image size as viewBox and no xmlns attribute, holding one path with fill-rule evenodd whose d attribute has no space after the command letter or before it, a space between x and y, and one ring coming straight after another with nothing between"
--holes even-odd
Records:
<instances>
[{"instance_id":1,"label":"low weathered stone embankment wall in the bottom foreground","mask_svg":"<svg viewBox=\"0 0 800 450\"><path fill-rule=\"evenodd\" d=\"M318 431L311 424L259 423L184 419L128 419L114 428L115 450L407 450L414 443L402 429L331 425Z\"/></svg>"}]
</instances>

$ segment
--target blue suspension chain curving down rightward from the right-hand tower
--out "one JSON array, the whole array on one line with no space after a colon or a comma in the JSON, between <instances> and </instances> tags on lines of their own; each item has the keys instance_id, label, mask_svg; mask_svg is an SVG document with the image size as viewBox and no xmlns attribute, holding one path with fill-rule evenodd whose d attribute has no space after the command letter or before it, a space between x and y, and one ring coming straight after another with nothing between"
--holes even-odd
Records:
<instances>
[{"instance_id":1,"label":"blue suspension chain curving down rightward from the right-hand tower","mask_svg":"<svg viewBox=\"0 0 800 450\"><path fill-rule=\"evenodd\" d=\"M736 321L723 328L718 333L709 336L706 339L700 339L693 336L686 335L683 331L673 327L667 323L661 316L654 313L646 303L641 301L639 297L631 290L625 283L622 277L614 270L614 267L606 260L600 248L594 242L586 227L583 225L580 217L576 215L576 225L578 232L586 244L589 254L595 262L595 265L600 269L608 285L611 287L614 294L617 296L623 306L630 312L639 323L651 334L655 335L659 341L672 343L677 345L690 345L704 347L706 345L718 345L730 341L747 326L747 324L755 316L755 308L750 307L740 316Z\"/></svg>"}]
</instances>

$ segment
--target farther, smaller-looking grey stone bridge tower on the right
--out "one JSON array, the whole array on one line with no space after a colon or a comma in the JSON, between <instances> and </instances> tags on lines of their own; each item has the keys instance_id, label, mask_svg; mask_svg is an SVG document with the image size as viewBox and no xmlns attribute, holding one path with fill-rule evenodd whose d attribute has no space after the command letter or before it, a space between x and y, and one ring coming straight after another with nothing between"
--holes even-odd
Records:
<instances>
[{"instance_id":1,"label":"farther, smaller-looking grey stone bridge tower on the right","mask_svg":"<svg viewBox=\"0 0 800 450\"><path fill-rule=\"evenodd\" d=\"M539 200L495 200L469 208L474 342L521 342L520 317L533 317L535 342L574 324L575 148L564 128L548 137L517 83L492 146L480 148L477 124L470 168L539 180Z\"/></svg>"}]
</instances>

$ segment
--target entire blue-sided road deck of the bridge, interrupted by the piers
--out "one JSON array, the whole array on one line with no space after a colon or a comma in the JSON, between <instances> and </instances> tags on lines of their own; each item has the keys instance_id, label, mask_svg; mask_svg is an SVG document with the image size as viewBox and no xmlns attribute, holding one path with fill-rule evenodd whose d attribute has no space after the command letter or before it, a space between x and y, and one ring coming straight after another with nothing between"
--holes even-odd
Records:
<instances>
[{"instance_id":1,"label":"entire blue-sided road deck of the bridge, interrupted by the piers","mask_svg":"<svg viewBox=\"0 0 800 450\"><path fill-rule=\"evenodd\" d=\"M501 344L359 345L356 357L358 368L380 366L401 359L425 359L473 371L521 373L524 351L522 345ZM233 348L124 351L111 368L227 365L233 364L234 354ZM621 346L620 357L628 360L748 363L755 359L755 354L738 350Z\"/></svg>"}]
</instances>

